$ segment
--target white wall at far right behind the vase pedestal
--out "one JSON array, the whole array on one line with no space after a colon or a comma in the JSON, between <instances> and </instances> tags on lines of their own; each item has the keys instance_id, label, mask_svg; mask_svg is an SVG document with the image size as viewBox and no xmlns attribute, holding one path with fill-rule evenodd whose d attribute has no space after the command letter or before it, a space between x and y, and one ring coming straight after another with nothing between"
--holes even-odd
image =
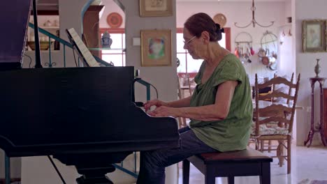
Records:
<instances>
[{"instance_id":1,"label":"white wall at far right behind the vase pedestal","mask_svg":"<svg viewBox=\"0 0 327 184\"><path fill-rule=\"evenodd\" d=\"M321 77L327 77L327 54L326 52L321 53L303 53L302 52L302 21L312 20L312 19L327 19L326 0L293 0L295 5L295 34L296 34L296 72L301 74L300 91L298 95L298 105L303 107L310 107L310 91L311 86L309 79L314 77L314 66L316 65L316 59L320 58L321 66ZM326 87L326 83L324 85ZM316 84L315 95L317 96L318 87ZM318 122L318 112L319 112L319 99L315 102L315 114L316 123ZM310 130L310 112L303 111L297 113L297 144L303 145L303 141L307 139L307 133ZM320 136L318 133L314 135L313 144L321 144Z\"/></svg>"}]
</instances>

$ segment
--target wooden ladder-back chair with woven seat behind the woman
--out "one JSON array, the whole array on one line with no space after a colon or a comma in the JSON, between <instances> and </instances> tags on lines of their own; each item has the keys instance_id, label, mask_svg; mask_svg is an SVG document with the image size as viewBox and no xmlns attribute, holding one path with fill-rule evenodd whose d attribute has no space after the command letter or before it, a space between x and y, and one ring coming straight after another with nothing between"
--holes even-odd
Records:
<instances>
[{"instance_id":1,"label":"wooden ladder-back chair with woven seat behind the woman","mask_svg":"<svg viewBox=\"0 0 327 184\"><path fill-rule=\"evenodd\" d=\"M293 82L283 77L274 77L268 82L259 84L256 75L254 86L256 107L254 109L252 139L254 139L256 143L257 150L261 152L277 152L274 157L279 159L279 167L282 167L284 159L287 160L287 174L291 173L291 136L299 83L300 75L298 75L296 84L293 84ZM268 95L259 95L260 89L267 86L275 87L277 84L288 86L288 93L273 90ZM293 95L292 89L295 89ZM286 100L286 103L264 101L267 98L272 98L273 100L282 98ZM278 144L276 148L273 148L270 144L268 144L268 148L266 148L267 146L264 144L264 141L277 141ZM284 154L284 148L287 150L286 155Z\"/></svg>"}]
</instances>

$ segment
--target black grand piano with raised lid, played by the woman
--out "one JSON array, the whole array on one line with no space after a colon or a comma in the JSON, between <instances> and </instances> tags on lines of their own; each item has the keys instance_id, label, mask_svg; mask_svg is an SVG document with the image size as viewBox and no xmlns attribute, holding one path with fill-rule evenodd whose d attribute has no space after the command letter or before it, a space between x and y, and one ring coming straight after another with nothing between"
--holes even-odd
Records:
<instances>
[{"instance_id":1,"label":"black grand piano with raised lid, played by the woman","mask_svg":"<svg viewBox=\"0 0 327 184\"><path fill-rule=\"evenodd\" d=\"M0 148L6 155L53 155L75 165L78 183L112 183L105 177L115 170L112 163L133 151L179 146L175 118L150 117L133 102L133 67L20 68L31 4L1 2L12 16L0 16L8 23L0 34Z\"/></svg>"}]
</instances>

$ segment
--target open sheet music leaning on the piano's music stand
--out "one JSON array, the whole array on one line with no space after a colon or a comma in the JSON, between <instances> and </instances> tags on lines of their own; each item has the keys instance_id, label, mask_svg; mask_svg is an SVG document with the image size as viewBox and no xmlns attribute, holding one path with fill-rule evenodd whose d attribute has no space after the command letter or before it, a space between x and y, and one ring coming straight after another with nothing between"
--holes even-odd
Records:
<instances>
[{"instance_id":1,"label":"open sheet music leaning on the piano's music stand","mask_svg":"<svg viewBox=\"0 0 327 184\"><path fill-rule=\"evenodd\" d=\"M78 36L78 33L76 33L75 29L71 28L68 29L69 33L71 33L71 37L75 41L76 45L80 49L80 52L84 56L85 60L91 67L100 67L99 63L96 62L94 59L94 56L92 56L91 52L89 52L89 49L87 49L86 45L82 42L82 39L80 39L80 36Z\"/></svg>"}]
</instances>

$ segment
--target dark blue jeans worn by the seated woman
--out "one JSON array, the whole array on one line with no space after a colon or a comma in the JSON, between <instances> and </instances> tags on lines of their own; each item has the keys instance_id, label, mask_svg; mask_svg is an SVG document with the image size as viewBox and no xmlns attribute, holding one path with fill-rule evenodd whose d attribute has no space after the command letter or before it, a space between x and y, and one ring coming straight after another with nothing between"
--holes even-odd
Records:
<instances>
[{"instance_id":1,"label":"dark blue jeans worn by the seated woman","mask_svg":"<svg viewBox=\"0 0 327 184\"><path fill-rule=\"evenodd\" d=\"M198 153L217 152L203 143L194 132L186 127L180 132L180 148L141 151L140 173L137 184L164 184L165 168Z\"/></svg>"}]
</instances>

